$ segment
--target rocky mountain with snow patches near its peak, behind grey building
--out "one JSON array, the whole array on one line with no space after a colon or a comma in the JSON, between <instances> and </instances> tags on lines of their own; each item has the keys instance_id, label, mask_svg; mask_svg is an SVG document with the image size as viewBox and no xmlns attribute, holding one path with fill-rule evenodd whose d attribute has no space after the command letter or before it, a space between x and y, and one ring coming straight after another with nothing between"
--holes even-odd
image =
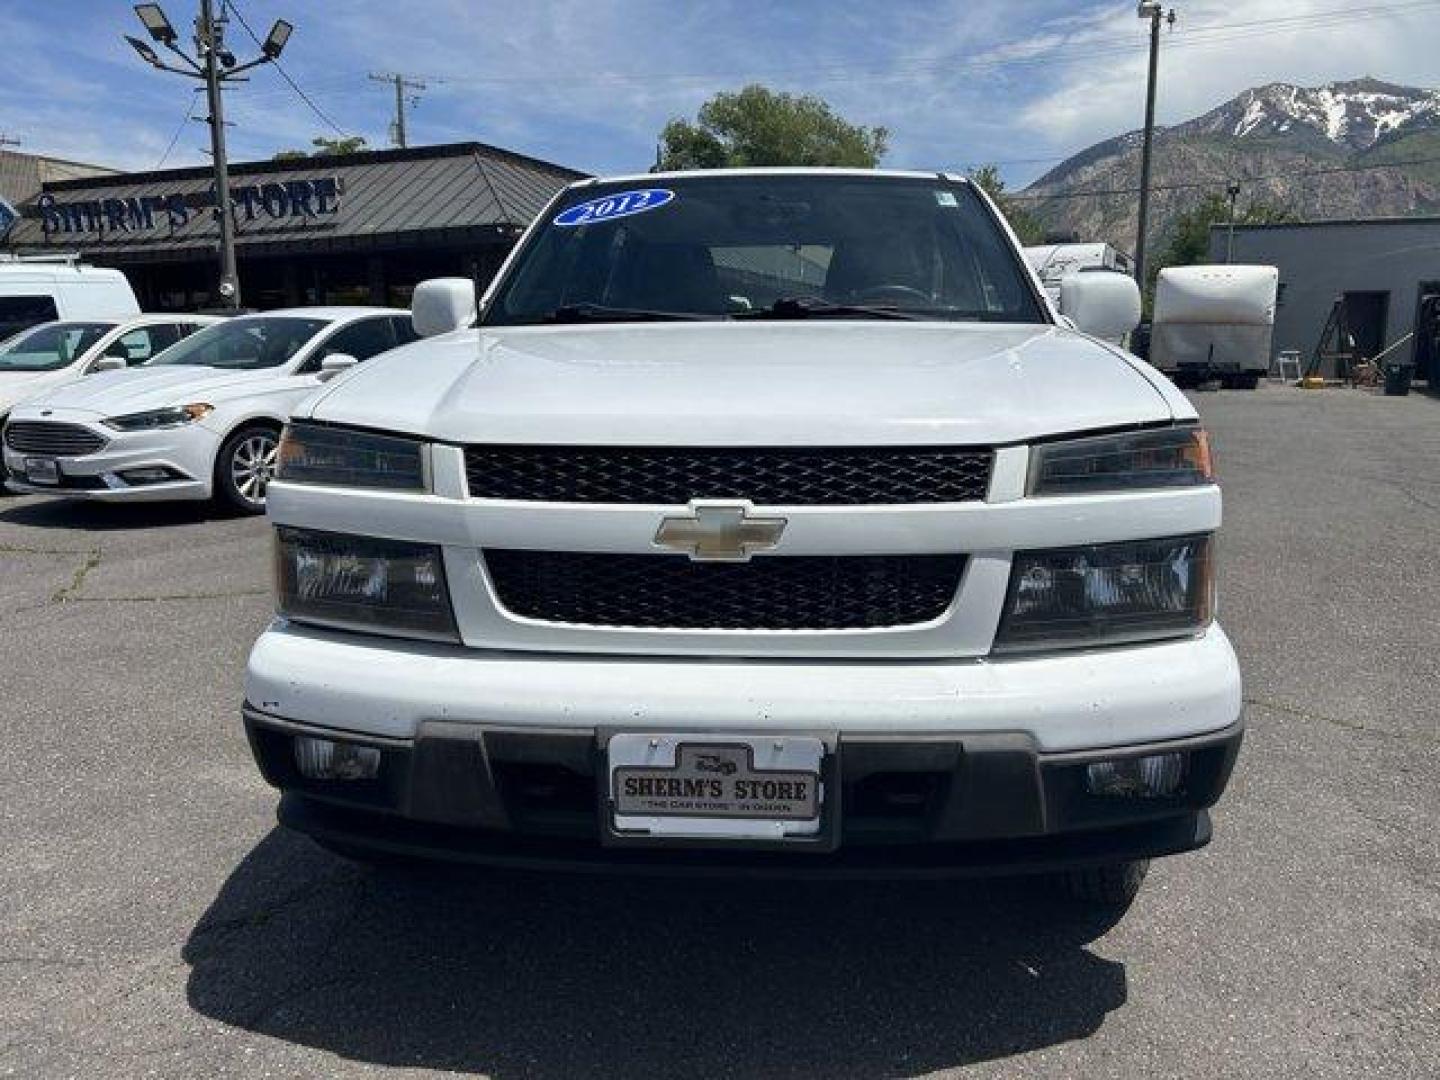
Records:
<instances>
[{"instance_id":1,"label":"rocky mountain with snow patches near its peak, behind grey building","mask_svg":"<svg viewBox=\"0 0 1440 1080\"><path fill-rule=\"evenodd\" d=\"M1097 143L1025 190L1041 223L1081 239L1135 246L1138 131ZM1387 164L1404 163L1404 164ZM1417 164L1418 163L1418 164ZM1381 167L1384 166L1384 167ZM1240 207L1305 219L1440 212L1440 92L1374 78L1247 89L1155 137L1152 243L1207 193L1241 186Z\"/></svg>"}]
</instances>

